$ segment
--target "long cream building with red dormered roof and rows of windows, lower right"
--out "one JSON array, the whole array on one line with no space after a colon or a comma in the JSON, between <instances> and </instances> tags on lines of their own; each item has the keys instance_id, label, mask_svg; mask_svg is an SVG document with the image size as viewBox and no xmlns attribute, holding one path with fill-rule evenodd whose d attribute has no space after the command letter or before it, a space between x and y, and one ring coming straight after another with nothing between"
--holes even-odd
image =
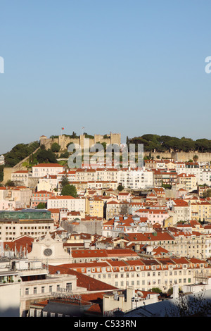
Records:
<instances>
[{"instance_id":1,"label":"long cream building with red dormered roof and rows of windows, lower right","mask_svg":"<svg viewBox=\"0 0 211 331\"><path fill-rule=\"evenodd\" d=\"M132 286L143 291L158 287L167 292L173 285L182 289L184 285L200 282L200 277L207 280L211 275L211 266L205 260L185 257L107 260L72 263L68 267L120 289Z\"/></svg>"}]
</instances>

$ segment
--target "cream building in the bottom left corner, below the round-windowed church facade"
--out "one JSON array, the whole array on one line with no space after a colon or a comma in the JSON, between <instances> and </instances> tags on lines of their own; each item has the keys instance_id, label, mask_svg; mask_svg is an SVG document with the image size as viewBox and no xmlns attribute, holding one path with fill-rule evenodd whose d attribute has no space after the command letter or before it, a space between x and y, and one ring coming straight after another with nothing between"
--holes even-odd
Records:
<instances>
[{"instance_id":1,"label":"cream building in the bottom left corner, below the round-windowed church facade","mask_svg":"<svg viewBox=\"0 0 211 331\"><path fill-rule=\"evenodd\" d=\"M13 317L27 317L30 304L56 296L57 293L79 294L85 289L77 287L77 277L60 273L49 274L41 261L27 258L0 262L1 312ZM32 311L30 312L32 316ZM8 313L9 315L9 313ZM0 313L1 316L1 313ZM4 316L4 313L3 313Z\"/></svg>"}]
</instances>

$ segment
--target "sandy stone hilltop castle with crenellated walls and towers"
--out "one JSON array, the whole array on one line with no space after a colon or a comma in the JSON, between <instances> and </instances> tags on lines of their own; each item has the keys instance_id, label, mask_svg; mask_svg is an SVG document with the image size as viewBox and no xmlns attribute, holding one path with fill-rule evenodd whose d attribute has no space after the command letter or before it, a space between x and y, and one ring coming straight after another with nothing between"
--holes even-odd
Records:
<instances>
[{"instance_id":1,"label":"sandy stone hilltop castle with crenellated walls and towers","mask_svg":"<svg viewBox=\"0 0 211 331\"><path fill-rule=\"evenodd\" d=\"M46 136L39 137L39 144L44 145L46 149L50 149L51 145L56 142L60 145L60 149L67 149L67 145L72 142L74 144L79 144L81 148L84 147L84 138L85 135L79 135L78 138L71 138L68 135L60 135L55 138L47 138ZM96 144L97 142L102 143L106 142L106 144L121 144L121 134L120 133L112 133L109 135L94 135L94 138L89 138L89 146Z\"/></svg>"}]
</instances>

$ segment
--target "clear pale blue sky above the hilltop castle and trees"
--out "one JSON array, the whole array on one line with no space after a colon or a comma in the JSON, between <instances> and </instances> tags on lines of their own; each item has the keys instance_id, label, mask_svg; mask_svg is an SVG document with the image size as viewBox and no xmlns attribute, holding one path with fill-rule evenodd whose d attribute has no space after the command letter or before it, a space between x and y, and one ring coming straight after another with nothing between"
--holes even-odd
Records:
<instances>
[{"instance_id":1,"label":"clear pale blue sky above the hilltop castle and trees","mask_svg":"<svg viewBox=\"0 0 211 331\"><path fill-rule=\"evenodd\" d=\"M211 139L210 0L1 0L0 154L39 136Z\"/></svg>"}]
</instances>

